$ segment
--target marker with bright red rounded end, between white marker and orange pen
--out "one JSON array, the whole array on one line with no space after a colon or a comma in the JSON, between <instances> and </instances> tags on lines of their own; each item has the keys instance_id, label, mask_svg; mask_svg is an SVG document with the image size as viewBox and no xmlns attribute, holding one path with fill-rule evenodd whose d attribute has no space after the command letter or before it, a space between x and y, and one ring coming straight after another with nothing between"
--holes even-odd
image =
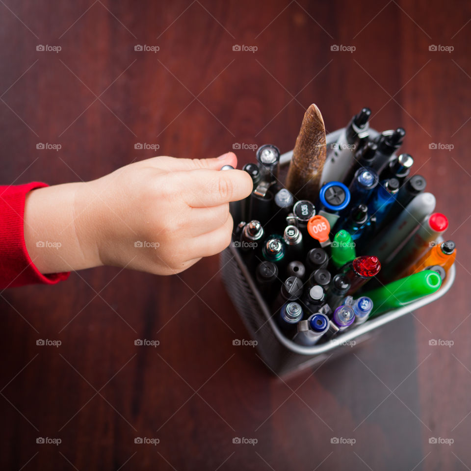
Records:
<instances>
[{"instance_id":1,"label":"marker with bright red rounded end, between white marker and orange pen","mask_svg":"<svg viewBox=\"0 0 471 471\"><path fill-rule=\"evenodd\" d=\"M447 228L448 220L440 212L435 212L425 218L415 234L386 265L386 270L381 274L380 280L384 282L402 278L409 266L428 249L430 242L435 241Z\"/></svg>"}]
</instances>

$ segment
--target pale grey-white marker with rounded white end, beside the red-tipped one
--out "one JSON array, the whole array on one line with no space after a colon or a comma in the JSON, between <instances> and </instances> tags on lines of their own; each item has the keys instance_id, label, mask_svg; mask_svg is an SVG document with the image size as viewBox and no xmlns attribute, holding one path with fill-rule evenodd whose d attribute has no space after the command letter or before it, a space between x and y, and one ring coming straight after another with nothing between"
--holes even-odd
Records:
<instances>
[{"instance_id":1,"label":"pale grey-white marker with rounded white end, beside the red-tipped one","mask_svg":"<svg viewBox=\"0 0 471 471\"><path fill-rule=\"evenodd\" d=\"M432 193L417 195L390 225L368 244L366 252L387 263L394 252L435 209ZM389 219L389 217L388 217Z\"/></svg>"}]
</instances>

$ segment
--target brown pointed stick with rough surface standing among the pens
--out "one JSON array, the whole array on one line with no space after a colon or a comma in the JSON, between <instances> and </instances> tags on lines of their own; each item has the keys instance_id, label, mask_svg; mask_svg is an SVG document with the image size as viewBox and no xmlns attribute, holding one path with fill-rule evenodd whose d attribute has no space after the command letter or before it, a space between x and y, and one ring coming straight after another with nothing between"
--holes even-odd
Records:
<instances>
[{"instance_id":1,"label":"brown pointed stick with rough surface standing among the pens","mask_svg":"<svg viewBox=\"0 0 471 471\"><path fill-rule=\"evenodd\" d=\"M299 199L319 191L326 157L325 126L319 108L312 104L304 114L289 163L286 187Z\"/></svg>"}]
</instances>

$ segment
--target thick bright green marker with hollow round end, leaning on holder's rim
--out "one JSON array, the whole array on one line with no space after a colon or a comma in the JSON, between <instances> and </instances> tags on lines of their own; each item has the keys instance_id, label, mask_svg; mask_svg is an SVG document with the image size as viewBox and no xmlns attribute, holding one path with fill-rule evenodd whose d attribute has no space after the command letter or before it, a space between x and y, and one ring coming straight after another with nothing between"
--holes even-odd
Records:
<instances>
[{"instance_id":1,"label":"thick bright green marker with hollow round end, leaning on holder's rim","mask_svg":"<svg viewBox=\"0 0 471 471\"><path fill-rule=\"evenodd\" d=\"M391 309L400 308L427 294L432 294L441 286L442 278L437 272L423 270L381 288L367 291L363 296L368 296L373 301L373 310L369 315L371 318Z\"/></svg>"}]
</instances>

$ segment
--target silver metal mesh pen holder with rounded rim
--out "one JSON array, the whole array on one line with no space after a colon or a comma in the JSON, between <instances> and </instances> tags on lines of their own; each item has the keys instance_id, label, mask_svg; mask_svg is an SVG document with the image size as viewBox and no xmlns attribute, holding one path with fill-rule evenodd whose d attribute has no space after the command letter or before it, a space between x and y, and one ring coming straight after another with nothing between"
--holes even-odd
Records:
<instances>
[{"instance_id":1,"label":"silver metal mesh pen holder with rounded rim","mask_svg":"<svg viewBox=\"0 0 471 471\"><path fill-rule=\"evenodd\" d=\"M326 136L329 146L337 140L341 130ZM283 167L291 158L292 152L281 156ZM313 366L328 357L340 355L346 346L358 345L366 340L379 327L402 315L429 304L443 296L453 285L455 266L448 270L441 288L399 309L394 309L367 320L358 327L352 327L327 342L314 346L302 346L284 336L273 320L272 313L263 299L255 280L242 260L237 248L232 244L220 257L220 271L226 290L248 330L265 365L278 376L287 376L303 368Z\"/></svg>"}]
</instances>

